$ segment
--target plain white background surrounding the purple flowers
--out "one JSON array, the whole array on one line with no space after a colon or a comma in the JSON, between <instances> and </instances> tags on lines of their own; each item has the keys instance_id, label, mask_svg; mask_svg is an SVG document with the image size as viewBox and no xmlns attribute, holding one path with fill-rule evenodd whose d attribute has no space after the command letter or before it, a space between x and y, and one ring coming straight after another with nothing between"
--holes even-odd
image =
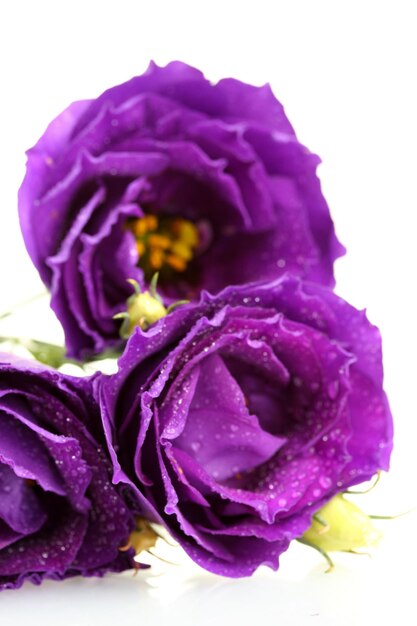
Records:
<instances>
[{"instance_id":1,"label":"plain white background surrounding the purple flowers","mask_svg":"<svg viewBox=\"0 0 417 626\"><path fill-rule=\"evenodd\" d=\"M0 8L0 310L41 291L21 241L16 194L24 151L71 101L180 59L217 80L267 81L299 138L322 157L320 176L348 255L337 292L384 338L396 423L392 472L364 508L415 504L416 19L415 3L350 0L2 2ZM46 300L0 334L59 339ZM278 573L230 581L191 565L153 574L26 585L0 597L2 626L32 624L363 625L415 623L415 514L385 522L373 560L320 558L295 545ZM170 553L179 561L181 553Z\"/></svg>"}]
</instances>

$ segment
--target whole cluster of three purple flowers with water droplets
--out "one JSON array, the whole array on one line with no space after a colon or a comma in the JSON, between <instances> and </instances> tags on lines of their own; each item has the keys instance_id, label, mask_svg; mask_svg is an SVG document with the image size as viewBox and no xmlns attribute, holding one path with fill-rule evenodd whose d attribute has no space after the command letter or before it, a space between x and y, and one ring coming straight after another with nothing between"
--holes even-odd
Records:
<instances>
[{"instance_id":1,"label":"whole cluster of three purple flowers with water droplets","mask_svg":"<svg viewBox=\"0 0 417 626\"><path fill-rule=\"evenodd\" d=\"M268 86L179 62L29 151L21 227L67 354L121 356L76 378L2 355L0 588L140 567L148 522L232 577L332 548L335 505L348 533L392 419L379 332L332 291L318 163Z\"/></svg>"}]
</instances>

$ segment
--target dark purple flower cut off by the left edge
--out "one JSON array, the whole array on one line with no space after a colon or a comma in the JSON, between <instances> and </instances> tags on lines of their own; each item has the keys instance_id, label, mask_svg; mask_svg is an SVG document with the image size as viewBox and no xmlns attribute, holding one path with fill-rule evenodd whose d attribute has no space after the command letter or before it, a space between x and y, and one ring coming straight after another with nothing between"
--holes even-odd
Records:
<instances>
[{"instance_id":1,"label":"dark purple flower cut off by the left edge","mask_svg":"<svg viewBox=\"0 0 417 626\"><path fill-rule=\"evenodd\" d=\"M0 589L133 567L99 424L90 379L1 355Z\"/></svg>"}]
</instances>

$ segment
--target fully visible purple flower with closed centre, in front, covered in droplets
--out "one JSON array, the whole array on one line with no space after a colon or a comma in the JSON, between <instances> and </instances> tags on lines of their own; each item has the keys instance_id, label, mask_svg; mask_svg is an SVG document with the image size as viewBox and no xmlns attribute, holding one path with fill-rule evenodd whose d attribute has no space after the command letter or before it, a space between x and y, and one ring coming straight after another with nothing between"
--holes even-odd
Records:
<instances>
[{"instance_id":1,"label":"fully visible purple flower with closed centre, in front, covered in droplets","mask_svg":"<svg viewBox=\"0 0 417 626\"><path fill-rule=\"evenodd\" d=\"M226 576L278 567L315 511L388 468L378 329L298 278L203 293L137 328L99 390L114 481Z\"/></svg>"}]
</instances>

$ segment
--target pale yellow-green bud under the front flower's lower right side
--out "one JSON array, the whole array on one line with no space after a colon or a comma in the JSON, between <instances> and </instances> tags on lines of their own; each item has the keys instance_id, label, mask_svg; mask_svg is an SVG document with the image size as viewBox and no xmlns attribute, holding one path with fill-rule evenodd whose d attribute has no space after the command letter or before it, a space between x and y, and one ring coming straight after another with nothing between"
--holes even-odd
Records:
<instances>
[{"instance_id":1,"label":"pale yellow-green bud under the front flower's lower right side","mask_svg":"<svg viewBox=\"0 0 417 626\"><path fill-rule=\"evenodd\" d=\"M328 552L354 553L358 548L374 546L380 538L381 533L373 526L371 517L343 494L338 494L313 516L310 528L300 541L323 554L330 570L333 563Z\"/></svg>"}]
</instances>

